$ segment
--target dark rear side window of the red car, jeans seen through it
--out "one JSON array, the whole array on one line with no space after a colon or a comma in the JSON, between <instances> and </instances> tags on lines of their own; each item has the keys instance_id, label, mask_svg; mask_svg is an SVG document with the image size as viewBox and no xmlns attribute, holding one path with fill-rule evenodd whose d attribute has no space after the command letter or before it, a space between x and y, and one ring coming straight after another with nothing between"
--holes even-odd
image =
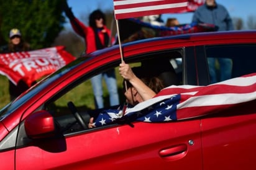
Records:
<instances>
[{"instance_id":1,"label":"dark rear side window of the red car, jeans seen through it","mask_svg":"<svg viewBox=\"0 0 256 170\"><path fill-rule=\"evenodd\" d=\"M210 83L255 73L256 45L206 47Z\"/></svg>"}]
</instances>

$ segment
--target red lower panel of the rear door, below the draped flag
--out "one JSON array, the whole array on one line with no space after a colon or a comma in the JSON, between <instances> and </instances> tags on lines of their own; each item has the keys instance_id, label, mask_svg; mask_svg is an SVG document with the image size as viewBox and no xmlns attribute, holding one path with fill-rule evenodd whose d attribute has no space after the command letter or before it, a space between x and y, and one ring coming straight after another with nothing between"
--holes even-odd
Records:
<instances>
[{"instance_id":1,"label":"red lower panel of the rear door, below the draped flag","mask_svg":"<svg viewBox=\"0 0 256 170\"><path fill-rule=\"evenodd\" d=\"M255 122L252 107L203 119L203 169L255 169Z\"/></svg>"}]
</instances>

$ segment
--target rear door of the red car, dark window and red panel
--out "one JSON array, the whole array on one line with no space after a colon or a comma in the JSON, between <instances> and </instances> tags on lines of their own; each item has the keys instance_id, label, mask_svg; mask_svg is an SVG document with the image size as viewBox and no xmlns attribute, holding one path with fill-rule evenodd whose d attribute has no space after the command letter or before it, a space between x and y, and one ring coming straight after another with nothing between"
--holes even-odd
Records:
<instances>
[{"instance_id":1,"label":"rear door of the red car, dark window and red panel","mask_svg":"<svg viewBox=\"0 0 256 170\"><path fill-rule=\"evenodd\" d=\"M231 78L256 72L255 44L235 43L196 47L199 84L211 83L208 58L232 61ZM216 61L217 78L221 69ZM219 79L218 81L221 81ZM234 109L217 111L202 119L203 169L255 169L255 101Z\"/></svg>"}]
</instances>

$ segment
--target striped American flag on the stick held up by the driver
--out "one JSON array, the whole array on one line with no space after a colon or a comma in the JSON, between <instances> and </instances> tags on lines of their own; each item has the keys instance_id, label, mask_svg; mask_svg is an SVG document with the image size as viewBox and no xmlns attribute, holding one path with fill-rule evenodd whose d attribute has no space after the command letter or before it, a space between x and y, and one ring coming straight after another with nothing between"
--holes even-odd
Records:
<instances>
[{"instance_id":1,"label":"striped American flag on the stick held up by the driver","mask_svg":"<svg viewBox=\"0 0 256 170\"><path fill-rule=\"evenodd\" d=\"M114 0L116 19L165 13L194 11L204 1L198 0Z\"/></svg>"}]
</instances>

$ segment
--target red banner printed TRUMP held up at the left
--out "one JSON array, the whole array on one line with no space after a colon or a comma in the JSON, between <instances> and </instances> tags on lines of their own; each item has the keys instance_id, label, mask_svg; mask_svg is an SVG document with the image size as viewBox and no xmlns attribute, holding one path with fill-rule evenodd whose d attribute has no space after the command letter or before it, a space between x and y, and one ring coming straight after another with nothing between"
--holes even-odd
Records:
<instances>
[{"instance_id":1,"label":"red banner printed TRUMP held up at the left","mask_svg":"<svg viewBox=\"0 0 256 170\"><path fill-rule=\"evenodd\" d=\"M75 60L58 46L33 51L0 54L0 74L16 84L22 79L28 86Z\"/></svg>"}]
</instances>

